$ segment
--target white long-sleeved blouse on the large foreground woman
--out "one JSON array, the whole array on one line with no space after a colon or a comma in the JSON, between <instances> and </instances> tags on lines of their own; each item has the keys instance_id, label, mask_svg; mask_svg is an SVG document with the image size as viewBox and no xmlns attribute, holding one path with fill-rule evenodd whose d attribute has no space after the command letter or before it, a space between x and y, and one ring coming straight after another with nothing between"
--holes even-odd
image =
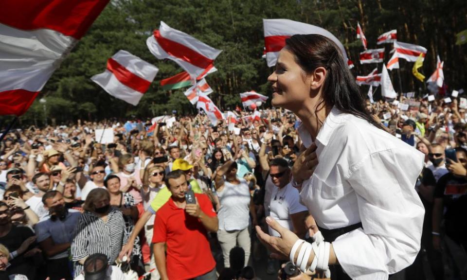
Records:
<instances>
[{"instance_id":1,"label":"white long-sleeved blouse on the large foreground woman","mask_svg":"<svg viewBox=\"0 0 467 280\"><path fill-rule=\"evenodd\" d=\"M305 147L313 141L299 127ZM332 244L359 280L388 279L420 250L424 208L414 186L424 155L367 121L334 107L316 137L318 166L300 198L319 227L362 223Z\"/></svg>"}]
</instances>

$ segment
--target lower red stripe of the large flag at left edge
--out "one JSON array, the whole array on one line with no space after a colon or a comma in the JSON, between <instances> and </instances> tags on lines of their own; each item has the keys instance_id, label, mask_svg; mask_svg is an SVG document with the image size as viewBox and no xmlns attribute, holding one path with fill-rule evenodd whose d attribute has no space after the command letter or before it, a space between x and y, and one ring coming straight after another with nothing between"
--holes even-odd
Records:
<instances>
[{"instance_id":1,"label":"lower red stripe of the large flag at left edge","mask_svg":"<svg viewBox=\"0 0 467 280\"><path fill-rule=\"evenodd\" d=\"M24 114L36 99L38 91L14 89L0 92L0 115Z\"/></svg>"}]
</instances>

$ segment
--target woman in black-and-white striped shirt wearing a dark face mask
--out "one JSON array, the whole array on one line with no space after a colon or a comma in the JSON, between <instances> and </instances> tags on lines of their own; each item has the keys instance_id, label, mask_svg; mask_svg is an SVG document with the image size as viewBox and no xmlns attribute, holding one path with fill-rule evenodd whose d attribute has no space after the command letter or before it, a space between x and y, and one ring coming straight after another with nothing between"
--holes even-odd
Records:
<instances>
[{"instance_id":1,"label":"woman in black-and-white striped shirt wearing a dark face mask","mask_svg":"<svg viewBox=\"0 0 467 280\"><path fill-rule=\"evenodd\" d=\"M83 209L85 212L78 220L71 246L75 276L83 271L86 258L95 253L105 254L108 263L113 264L127 241L123 214L118 208L110 206L107 190L92 190Z\"/></svg>"}]
</instances>

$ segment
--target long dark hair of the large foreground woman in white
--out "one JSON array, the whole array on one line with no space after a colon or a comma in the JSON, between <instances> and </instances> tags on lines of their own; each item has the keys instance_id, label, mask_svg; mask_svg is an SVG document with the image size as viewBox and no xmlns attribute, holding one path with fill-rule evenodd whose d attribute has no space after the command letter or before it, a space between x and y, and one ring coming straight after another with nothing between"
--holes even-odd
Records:
<instances>
[{"instance_id":1,"label":"long dark hair of the large foreground woman in white","mask_svg":"<svg viewBox=\"0 0 467 280\"><path fill-rule=\"evenodd\" d=\"M323 85L323 106L336 106L344 113L352 114L383 129L366 110L365 95L360 91L355 78L344 61L341 50L329 38L318 35L293 35L286 39L286 48L294 54L295 62L306 72L318 67L327 70ZM321 107L321 108L320 108Z\"/></svg>"}]
</instances>

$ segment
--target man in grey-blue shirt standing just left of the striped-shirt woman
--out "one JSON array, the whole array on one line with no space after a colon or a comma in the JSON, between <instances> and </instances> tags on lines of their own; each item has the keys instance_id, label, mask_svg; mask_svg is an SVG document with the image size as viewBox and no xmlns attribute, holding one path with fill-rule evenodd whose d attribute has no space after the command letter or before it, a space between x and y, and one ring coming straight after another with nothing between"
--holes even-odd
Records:
<instances>
[{"instance_id":1,"label":"man in grey-blue shirt standing just left of the striped-shirt woman","mask_svg":"<svg viewBox=\"0 0 467 280\"><path fill-rule=\"evenodd\" d=\"M47 256L47 275L50 280L71 280L68 249L81 213L69 212L62 194L57 191L46 192L42 203L50 215L41 219L35 229L37 242Z\"/></svg>"}]
</instances>

